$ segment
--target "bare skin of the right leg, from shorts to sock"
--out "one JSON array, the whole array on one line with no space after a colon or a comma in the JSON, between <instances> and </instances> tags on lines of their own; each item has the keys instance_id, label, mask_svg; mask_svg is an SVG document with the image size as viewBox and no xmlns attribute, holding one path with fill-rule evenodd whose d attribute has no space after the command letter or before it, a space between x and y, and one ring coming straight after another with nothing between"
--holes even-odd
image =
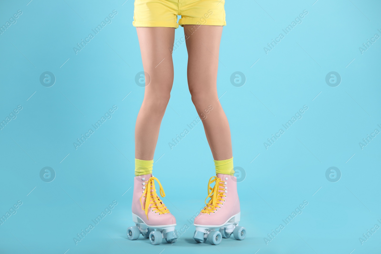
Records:
<instances>
[{"instance_id":1,"label":"bare skin of the right leg, from shorts to sock","mask_svg":"<svg viewBox=\"0 0 381 254\"><path fill-rule=\"evenodd\" d=\"M229 122L218 101L217 70L222 26L184 25L188 50L188 85L192 102L203 119L215 160L233 157ZM208 106L213 107L208 114ZM205 118L206 117L206 118Z\"/></svg>"}]
</instances>

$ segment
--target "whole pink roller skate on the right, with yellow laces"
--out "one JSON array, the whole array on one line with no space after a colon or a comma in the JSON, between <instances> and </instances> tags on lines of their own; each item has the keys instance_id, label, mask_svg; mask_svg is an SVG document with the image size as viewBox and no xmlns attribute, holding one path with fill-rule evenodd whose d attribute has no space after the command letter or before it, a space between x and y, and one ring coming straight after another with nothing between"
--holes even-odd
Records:
<instances>
[{"instance_id":1,"label":"whole pink roller skate on the right, with yellow laces","mask_svg":"<svg viewBox=\"0 0 381 254\"><path fill-rule=\"evenodd\" d=\"M210 185L215 182L214 187ZM207 199L210 200L207 203ZM239 227L240 203L237 193L237 178L227 174L217 174L209 179L205 208L194 219L196 231L193 238L198 243L207 239L212 244L221 243L222 238L233 234L237 240L246 237L246 228Z\"/></svg>"}]
</instances>

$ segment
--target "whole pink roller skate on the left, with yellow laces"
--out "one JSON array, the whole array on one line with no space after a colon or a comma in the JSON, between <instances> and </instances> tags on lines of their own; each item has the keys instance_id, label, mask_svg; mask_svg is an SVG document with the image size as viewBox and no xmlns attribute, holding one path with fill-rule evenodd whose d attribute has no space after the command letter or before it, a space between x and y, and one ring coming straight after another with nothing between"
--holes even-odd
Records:
<instances>
[{"instance_id":1,"label":"whole pink roller skate on the left, with yellow laces","mask_svg":"<svg viewBox=\"0 0 381 254\"><path fill-rule=\"evenodd\" d=\"M156 194L155 180L159 184L160 195L165 197L162 185L152 174L136 176L134 179L132 220L135 226L127 229L127 237L136 240L142 234L154 245L162 243L163 238L168 243L174 243L178 238L174 230L176 219Z\"/></svg>"}]
</instances>

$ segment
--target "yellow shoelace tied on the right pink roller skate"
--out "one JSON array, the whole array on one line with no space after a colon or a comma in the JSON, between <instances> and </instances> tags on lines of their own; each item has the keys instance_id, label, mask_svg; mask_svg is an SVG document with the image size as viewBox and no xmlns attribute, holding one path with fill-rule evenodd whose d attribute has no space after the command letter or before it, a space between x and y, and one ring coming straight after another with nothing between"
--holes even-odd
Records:
<instances>
[{"instance_id":1,"label":"yellow shoelace tied on the right pink roller skate","mask_svg":"<svg viewBox=\"0 0 381 254\"><path fill-rule=\"evenodd\" d=\"M211 184L215 182L215 185L213 188L211 187ZM204 209L201 210L202 213L207 213L210 214L211 212L214 212L217 210L216 208L221 208L219 204L223 204L221 201L225 201L223 197L225 197L225 187L224 187L225 182L221 181L216 176L212 176L209 179L208 183L208 196L205 198L205 204L207 204ZM220 188L220 186L222 188ZM207 203L207 199L210 198L209 202Z\"/></svg>"}]
</instances>

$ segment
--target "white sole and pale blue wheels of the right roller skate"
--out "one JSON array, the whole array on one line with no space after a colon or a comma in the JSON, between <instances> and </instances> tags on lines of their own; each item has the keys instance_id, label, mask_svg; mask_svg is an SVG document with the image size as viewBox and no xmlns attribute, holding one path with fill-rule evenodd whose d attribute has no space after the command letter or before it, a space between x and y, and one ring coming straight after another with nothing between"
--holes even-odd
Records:
<instances>
[{"instance_id":1,"label":"white sole and pale blue wheels of the right roller skate","mask_svg":"<svg viewBox=\"0 0 381 254\"><path fill-rule=\"evenodd\" d=\"M198 243L205 243L208 239L214 245L221 243L222 238L229 238L232 234L235 239L243 240L246 237L246 228L238 226L240 218L239 212L221 225L193 224L196 227L193 238Z\"/></svg>"}]
</instances>

